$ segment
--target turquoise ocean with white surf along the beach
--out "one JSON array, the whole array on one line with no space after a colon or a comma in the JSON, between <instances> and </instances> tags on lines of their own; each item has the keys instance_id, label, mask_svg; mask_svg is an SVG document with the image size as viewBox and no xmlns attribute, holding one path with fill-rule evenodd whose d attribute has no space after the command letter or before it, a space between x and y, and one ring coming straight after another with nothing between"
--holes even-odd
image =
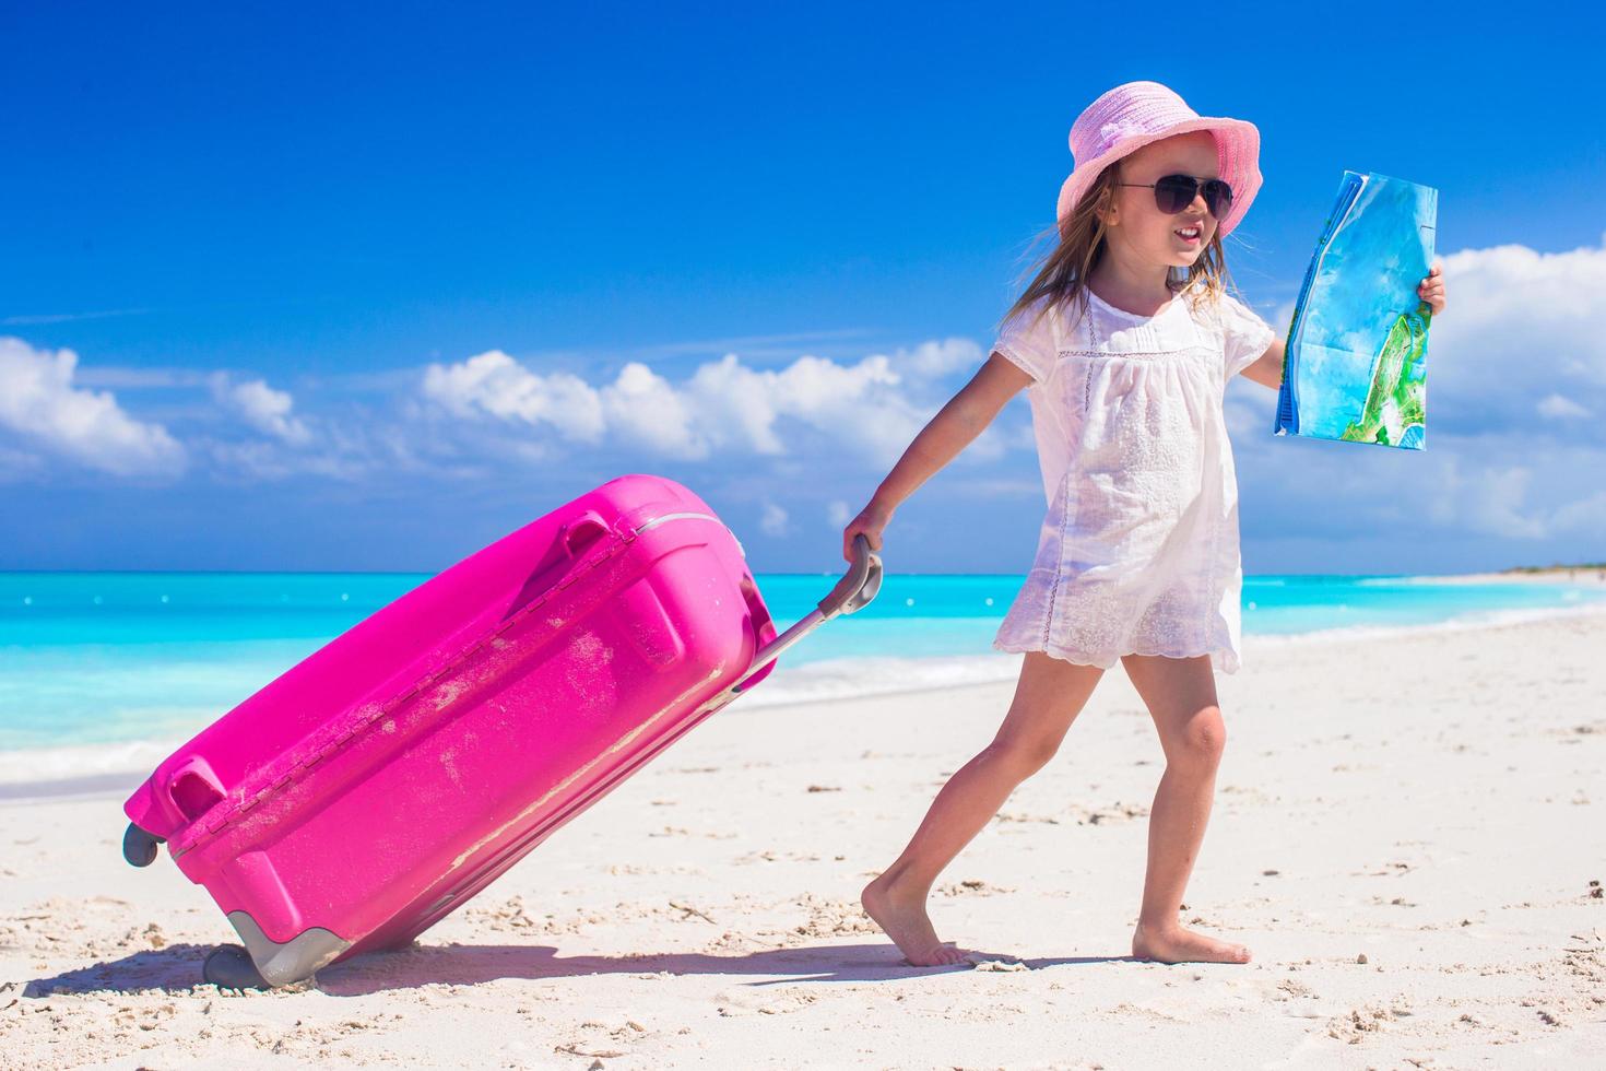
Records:
<instances>
[{"instance_id":1,"label":"turquoise ocean with white surf along the beach","mask_svg":"<svg viewBox=\"0 0 1606 1071\"><path fill-rule=\"evenodd\" d=\"M154 764L427 573L0 573L0 780ZM758 575L777 628L837 575ZM1015 575L888 575L864 610L825 623L737 707L1015 676L991 647ZM1593 588L1421 583L1412 576L1249 576L1245 633L1458 626L1598 604ZM1253 658L1246 670L1253 668ZM736 707L732 708L736 710Z\"/></svg>"}]
</instances>

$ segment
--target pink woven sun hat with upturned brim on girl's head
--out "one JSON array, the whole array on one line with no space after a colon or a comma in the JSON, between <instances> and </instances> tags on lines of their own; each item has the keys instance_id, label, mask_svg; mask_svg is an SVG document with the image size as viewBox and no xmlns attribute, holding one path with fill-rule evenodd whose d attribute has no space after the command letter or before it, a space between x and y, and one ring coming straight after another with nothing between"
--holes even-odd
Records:
<instances>
[{"instance_id":1,"label":"pink woven sun hat with upturned brim on girl's head","mask_svg":"<svg viewBox=\"0 0 1606 1071\"><path fill-rule=\"evenodd\" d=\"M1209 130L1216 136L1217 169L1222 181L1232 186L1232 207L1225 218L1217 220L1219 234L1225 238L1261 189L1261 132L1243 119L1200 116L1160 82L1118 85L1089 104L1071 124L1071 157L1076 167L1060 188L1058 218L1063 222L1071 214L1105 165L1150 141L1192 130Z\"/></svg>"}]
</instances>

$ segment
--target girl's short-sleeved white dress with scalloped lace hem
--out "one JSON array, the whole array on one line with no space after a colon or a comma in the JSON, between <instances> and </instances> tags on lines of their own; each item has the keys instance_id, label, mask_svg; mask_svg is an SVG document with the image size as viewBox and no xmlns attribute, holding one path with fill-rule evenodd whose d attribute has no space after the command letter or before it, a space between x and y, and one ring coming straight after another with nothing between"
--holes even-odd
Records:
<instances>
[{"instance_id":1,"label":"girl's short-sleeved white dress with scalloped lace hem","mask_svg":"<svg viewBox=\"0 0 1606 1071\"><path fill-rule=\"evenodd\" d=\"M1090 291L1087 315L1012 318L993 350L1025 369L1049 511L993 647L1113 666L1211 657L1238 670L1243 568L1227 381L1277 337L1230 295L1153 316Z\"/></svg>"}]
</instances>

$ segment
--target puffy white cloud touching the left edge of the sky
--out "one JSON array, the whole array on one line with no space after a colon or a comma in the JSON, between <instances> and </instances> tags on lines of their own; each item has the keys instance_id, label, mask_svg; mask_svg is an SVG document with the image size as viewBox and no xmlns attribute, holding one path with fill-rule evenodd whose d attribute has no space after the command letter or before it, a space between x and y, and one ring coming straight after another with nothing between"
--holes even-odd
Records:
<instances>
[{"instance_id":1,"label":"puffy white cloud touching the left edge of the sky","mask_svg":"<svg viewBox=\"0 0 1606 1071\"><path fill-rule=\"evenodd\" d=\"M172 477L185 448L161 424L138 421L111 392L74 384L79 355L0 337L0 427L114 475Z\"/></svg>"}]
</instances>

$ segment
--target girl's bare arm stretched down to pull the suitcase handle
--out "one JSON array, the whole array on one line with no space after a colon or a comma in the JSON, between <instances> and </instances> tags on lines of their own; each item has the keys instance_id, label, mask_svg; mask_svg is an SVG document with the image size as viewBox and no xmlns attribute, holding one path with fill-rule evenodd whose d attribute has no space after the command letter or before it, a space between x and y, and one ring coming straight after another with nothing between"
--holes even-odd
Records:
<instances>
[{"instance_id":1,"label":"girl's bare arm stretched down to pull the suitcase handle","mask_svg":"<svg viewBox=\"0 0 1606 1071\"><path fill-rule=\"evenodd\" d=\"M882 530L893 511L984 432L1004 403L1029 385L1031 376L1020 366L997 352L989 353L970 382L920 429L869 504L843 530L843 560L853 560L853 536L859 533L870 541L872 551L882 549Z\"/></svg>"}]
</instances>

